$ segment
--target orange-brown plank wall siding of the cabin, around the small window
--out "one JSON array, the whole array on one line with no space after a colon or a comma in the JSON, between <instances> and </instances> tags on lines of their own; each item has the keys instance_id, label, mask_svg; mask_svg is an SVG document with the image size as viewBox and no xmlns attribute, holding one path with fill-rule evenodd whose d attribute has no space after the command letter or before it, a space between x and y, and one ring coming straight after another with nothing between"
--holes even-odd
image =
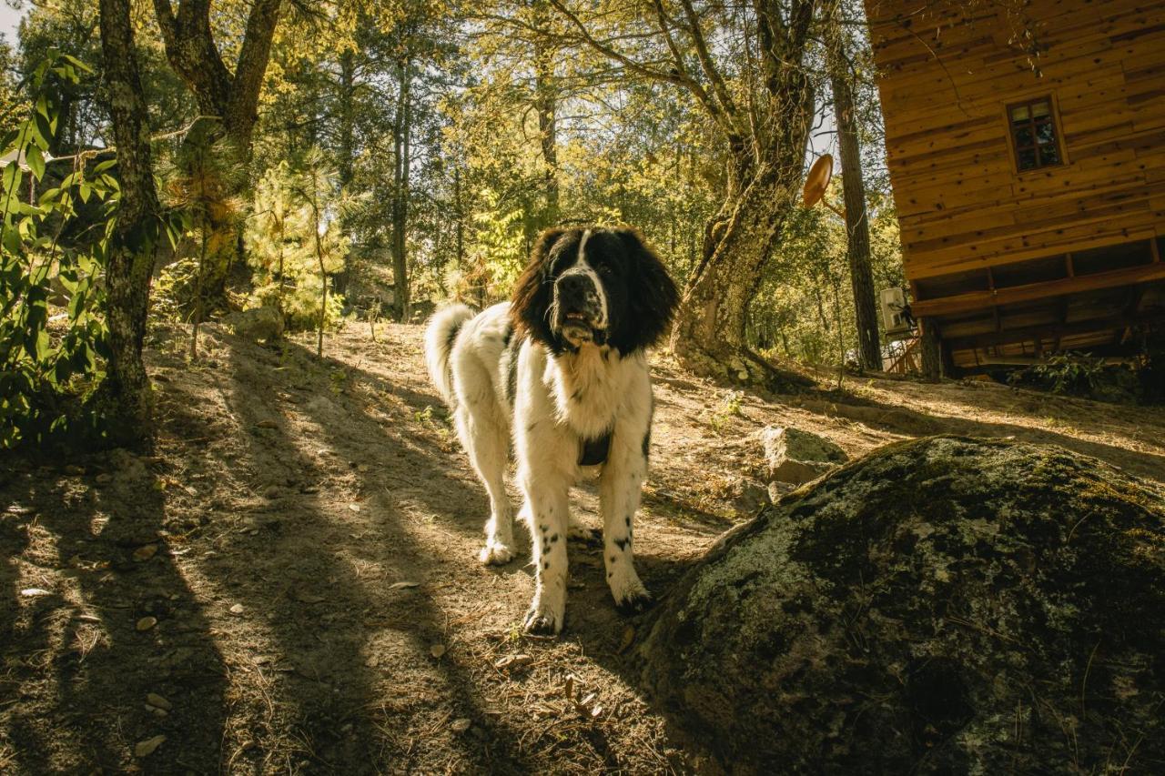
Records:
<instances>
[{"instance_id":1,"label":"orange-brown plank wall siding of the cabin, around the small window","mask_svg":"<svg viewBox=\"0 0 1165 776\"><path fill-rule=\"evenodd\" d=\"M1039 77L1001 5L866 6L908 278L1165 234L1165 2L1008 3ZM1066 163L1017 174L1004 106L1044 94Z\"/></svg>"}]
</instances>

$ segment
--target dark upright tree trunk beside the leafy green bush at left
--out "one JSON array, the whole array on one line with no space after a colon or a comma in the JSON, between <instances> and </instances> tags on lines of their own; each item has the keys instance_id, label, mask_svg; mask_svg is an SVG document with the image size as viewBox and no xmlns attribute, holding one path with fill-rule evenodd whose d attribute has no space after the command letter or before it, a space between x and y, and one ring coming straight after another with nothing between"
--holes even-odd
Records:
<instances>
[{"instance_id":1,"label":"dark upright tree trunk beside the leafy green bush at left","mask_svg":"<svg viewBox=\"0 0 1165 776\"><path fill-rule=\"evenodd\" d=\"M97 401L112 412L110 428L116 438L140 438L149 429L149 378L142 362L142 340L160 230L148 113L129 5L129 0L100 0L99 5L101 55L121 195L105 268L110 368Z\"/></svg>"}]
</instances>

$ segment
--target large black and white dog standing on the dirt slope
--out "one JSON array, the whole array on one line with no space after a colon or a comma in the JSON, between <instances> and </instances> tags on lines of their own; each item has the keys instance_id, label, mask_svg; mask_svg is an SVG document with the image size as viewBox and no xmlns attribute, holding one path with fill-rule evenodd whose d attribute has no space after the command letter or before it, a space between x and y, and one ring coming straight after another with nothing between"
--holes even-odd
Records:
<instances>
[{"instance_id":1,"label":"large black and white dog standing on the dirt slope","mask_svg":"<svg viewBox=\"0 0 1165 776\"><path fill-rule=\"evenodd\" d=\"M567 495L599 471L607 584L622 611L651 597L635 573L631 521L651 437L644 348L666 332L676 285L630 228L552 228L509 303L438 311L425 334L433 385L489 494L481 562L514 557L503 474L510 439L536 569L530 633L557 634L566 611Z\"/></svg>"}]
</instances>

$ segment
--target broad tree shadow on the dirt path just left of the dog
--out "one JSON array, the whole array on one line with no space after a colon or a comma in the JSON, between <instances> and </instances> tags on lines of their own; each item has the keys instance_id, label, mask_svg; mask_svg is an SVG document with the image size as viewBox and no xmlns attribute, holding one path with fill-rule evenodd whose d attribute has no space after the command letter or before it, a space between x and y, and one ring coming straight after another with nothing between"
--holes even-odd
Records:
<instances>
[{"instance_id":1,"label":"broad tree shadow on the dirt path just left of the dog","mask_svg":"<svg viewBox=\"0 0 1165 776\"><path fill-rule=\"evenodd\" d=\"M283 344L282 366L275 367L273 360L256 359L248 343L227 336L219 340L230 360L227 405L250 430L239 463L255 468L252 486L259 489L281 477L308 486L263 507L273 517L259 535L240 537L243 552L220 556L210 572L230 579L240 571L232 566L246 565L259 583L241 592L266 618L275 650L291 656L278 689L296 710L291 724L303 741L296 757L334 773L372 773L416 766L418 746L445 746L474 769L532 769L517 732L487 713L465 662L430 652L449 627L435 599L446 572L415 541L408 502L432 513L443 529L474 539L487 502L467 478L457 475L449 453L432 439L386 423L373 397L391 394L417 414L436 398L347 364L318 361L291 343ZM318 438L304 439L276 407L283 385L276 368L301 378L305 395L288 411L310 421ZM326 454L312 453L312 447ZM355 491L356 496L336 503L330 499L337 491ZM453 515L442 508L451 498L464 505ZM372 535L351 534L369 523ZM521 572L520 564L510 564L495 573ZM435 675L440 678L432 686ZM447 708L452 719L469 720L469 732L450 735L442 728L418 735L416 720L432 712L432 704ZM436 739L443 743L433 745Z\"/></svg>"}]
</instances>

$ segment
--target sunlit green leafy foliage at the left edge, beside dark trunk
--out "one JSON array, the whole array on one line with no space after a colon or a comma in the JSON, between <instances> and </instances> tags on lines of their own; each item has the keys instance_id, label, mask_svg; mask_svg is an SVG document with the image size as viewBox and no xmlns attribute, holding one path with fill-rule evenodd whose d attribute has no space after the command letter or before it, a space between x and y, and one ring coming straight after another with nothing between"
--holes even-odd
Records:
<instances>
[{"instance_id":1,"label":"sunlit green leafy foliage at the left edge, beside dark trunk","mask_svg":"<svg viewBox=\"0 0 1165 776\"><path fill-rule=\"evenodd\" d=\"M34 195L47 179L45 154L61 117L51 84L76 84L89 72L75 57L52 52L29 78L24 120L2 142L13 158L3 168L0 224L0 447L70 430L70 400L104 374L107 329L98 310L118 199L114 161L77 157L58 185ZM101 205L90 225L97 240L62 239L91 202Z\"/></svg>"}]
</instances>

